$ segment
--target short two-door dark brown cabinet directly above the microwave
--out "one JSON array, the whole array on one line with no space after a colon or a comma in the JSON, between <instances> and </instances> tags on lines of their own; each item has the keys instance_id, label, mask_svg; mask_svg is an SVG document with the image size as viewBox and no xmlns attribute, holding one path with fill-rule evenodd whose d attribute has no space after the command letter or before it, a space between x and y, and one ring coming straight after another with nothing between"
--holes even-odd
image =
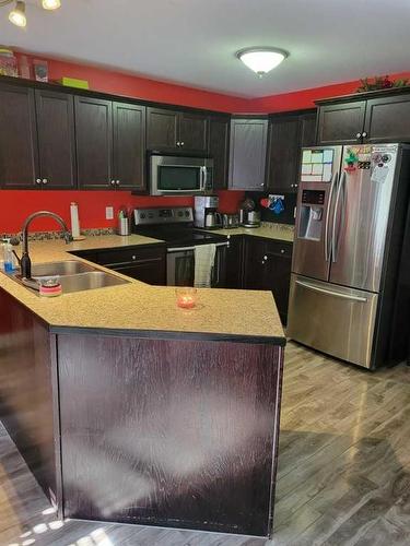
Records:
<instances>
[{"instance_id":1,"label":"short two-door dark brown cabinet directly above the microwave","mask_svg":"<svg viewBox=\"0 0 410 546\"><path fill-rule=\"evenodd\" d=\"M149 150L204 154L208 150L209 118L202 114L161 108L147 109Z\"/></svg>"}]
</instances>

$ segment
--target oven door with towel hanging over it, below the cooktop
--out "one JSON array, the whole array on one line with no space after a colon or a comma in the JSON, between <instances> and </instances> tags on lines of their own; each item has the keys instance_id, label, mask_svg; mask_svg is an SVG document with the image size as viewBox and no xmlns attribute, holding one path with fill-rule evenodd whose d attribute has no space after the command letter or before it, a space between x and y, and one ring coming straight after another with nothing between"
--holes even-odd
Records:
<instances>
[{"instance_id":1,"label":"oven door with towel hanging over it, below the cooktop","mask_svg":"<svg viewBox=\"0 0 410 546\"><path fill-rule=\"evenodd\" d=\"M212 270L212 288L223 288L226 284L226 250L229 242L218 242ZM194 286L195 247L168 248L166 254L167 286Z\"/></svg>"}]
</instances>

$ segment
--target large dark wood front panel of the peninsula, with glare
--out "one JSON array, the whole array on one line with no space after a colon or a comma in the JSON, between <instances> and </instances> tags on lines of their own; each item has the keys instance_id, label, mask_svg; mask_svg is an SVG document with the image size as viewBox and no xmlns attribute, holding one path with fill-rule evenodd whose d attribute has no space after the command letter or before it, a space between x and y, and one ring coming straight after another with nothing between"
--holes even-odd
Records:
<instances>
[{"instance_id":1,"label":"large dark wood front panel of the peninsula, with glare","mask_svg":"<svg viewBox=\"0 0 410 546\"><path fill-rule=\"evenodd\" d=\"M282 352L59 335L65 515L268 536Z\"/></svg>"}]
</instances>

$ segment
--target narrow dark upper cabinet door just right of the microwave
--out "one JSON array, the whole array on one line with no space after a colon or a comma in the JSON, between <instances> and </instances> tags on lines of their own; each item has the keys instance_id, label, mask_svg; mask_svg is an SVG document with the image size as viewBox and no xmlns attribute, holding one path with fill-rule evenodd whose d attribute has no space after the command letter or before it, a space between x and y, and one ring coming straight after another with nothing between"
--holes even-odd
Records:
<instances>
[{"instance_id":1,"label":"narrow dark upper cabinet door just right of the microwave","mask_svg":"<svg viewBox=\"0 0 410 546\"><path fill-rule=\"evenodd\" d=\"M209 155L213 158L213 189L227 188L230 161L230 120L211 118L209 131Z\"/></svg>"}]
</instances>

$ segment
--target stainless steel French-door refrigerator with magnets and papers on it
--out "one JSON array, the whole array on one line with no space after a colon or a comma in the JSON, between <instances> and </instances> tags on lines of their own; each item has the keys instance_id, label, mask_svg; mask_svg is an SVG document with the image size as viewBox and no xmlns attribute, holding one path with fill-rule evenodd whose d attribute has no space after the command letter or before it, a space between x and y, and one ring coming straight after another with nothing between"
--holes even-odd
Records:
<instances>
[{"instance_id":1,"label":"stainless steel French-door refrigerator with magnets and papers on it","mask_svg":"<svg viewBox=\"0 0 410 546\"><path fill-rule=\"evenodd\" d=\"M288 335L375 368L388 359L409 146L302 151Z\"/></svg>"}]
</instances>

